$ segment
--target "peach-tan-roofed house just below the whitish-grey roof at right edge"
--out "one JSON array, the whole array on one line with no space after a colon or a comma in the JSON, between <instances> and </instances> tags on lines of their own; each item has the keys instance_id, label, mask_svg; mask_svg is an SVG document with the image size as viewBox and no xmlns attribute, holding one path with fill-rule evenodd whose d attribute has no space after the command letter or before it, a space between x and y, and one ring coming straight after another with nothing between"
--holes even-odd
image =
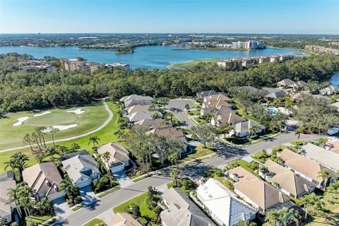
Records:
<instances>
[{"instance_id":1,"label":"peach-tan-roofed house just below the whitish-grey roof at right edge","mask_svg":"<svg viewBox=\"0 0 339 226\"><path fill-rule=\"evenodd\" d=\"M287 169L292 169L295 174L304 177L316 184L317 188L323 187L325 179L319 176L321 169L328 169L328 167L321 165L319 162L311 160L307 157L299 155L292 150L284 149L280 153L279 157L284 161L284 166ZM330 176L335 175L335 172L331 170Z\"/></svg>"}]
</instances>

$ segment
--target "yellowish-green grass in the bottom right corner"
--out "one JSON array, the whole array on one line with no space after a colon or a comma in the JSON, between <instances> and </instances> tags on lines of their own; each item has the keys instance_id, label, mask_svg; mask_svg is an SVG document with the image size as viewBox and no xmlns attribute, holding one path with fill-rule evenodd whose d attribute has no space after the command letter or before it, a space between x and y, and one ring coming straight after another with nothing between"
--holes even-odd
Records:
<instances>
[{"instance_id":1,"label":"yellowish-green grass in the bottom right corner","mask_svg":"<svg viewBox=\"0 0 339 226\"><path fill-rule=\"evenodd\" d=\"M315 211L311 215L314 220L307 224L307 226L325 226L325 225L339 225L339 197L332 198L332 204L329 203L330 195L325 194L322 201L325 203L324 211Z\"/></svg>"}]
</instances>

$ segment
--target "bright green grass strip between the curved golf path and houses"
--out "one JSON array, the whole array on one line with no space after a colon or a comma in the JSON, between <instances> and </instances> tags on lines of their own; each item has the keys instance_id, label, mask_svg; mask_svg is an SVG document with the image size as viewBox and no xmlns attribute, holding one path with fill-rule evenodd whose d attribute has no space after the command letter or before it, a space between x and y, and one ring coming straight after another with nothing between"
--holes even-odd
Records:
<instances>
[{"instance_id":1,"label":"bright green grass strip between the curved golf path and houses","mask_svg":"<svg viewBox=\"0 0 339 226\"><path fill-rule=\"evenodd\" d=\"M83 137L75 139L73 141L60 142L58 144L70 146L71 143L78 143L78 145L81 146L81 149L86 149L90 153L92 153L92 151L93 151L92 145L91 144L88 145L88 138L90 136L97 136L98 138L100 138L99 145L101 145L103 143L108 143L110 141L117 141L117 136L115 136L114 133L119 130L119 126L118 126L119 116L117 114L119 106L115 105L113 102L107 102L107 105L109 106L109 109L111 109L111 111L113 112L114 115L113 115L112 121L110 121L109 124L107 124L107 126L105 126L105 128L101 129L100 131L97 131L96 133L92 133L88 136L83 136ZM85 113L83 113L83 114L85 114ZM37 160L35 160L35 156L32 155L30 148L23 148L23 149L20 149L20 150L0 153L0 173L5 171L4 162L7 162L9 160L9 158L11 157L11 155L13 155L14 153L17 153L17 152L21 152L21 153L23 153L23 154L25 154L29 157L30 160L28 160L28 162L26 162L26 164L28 166L34 165L35 163L37 163Z\"/></svg>"}]
</instances>

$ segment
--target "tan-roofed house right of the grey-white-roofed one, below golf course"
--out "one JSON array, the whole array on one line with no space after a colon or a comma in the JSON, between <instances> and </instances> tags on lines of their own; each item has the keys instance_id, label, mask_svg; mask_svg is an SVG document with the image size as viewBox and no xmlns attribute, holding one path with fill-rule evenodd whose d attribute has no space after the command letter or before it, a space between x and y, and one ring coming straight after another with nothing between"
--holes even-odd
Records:
<instances>
[{"instance_id":1,"label":"tan-roofed house right of the grey-white-roofed one, below golf course","mask_svg":"<svg viewBox=\"0 0 339 226\"><path fill-rule=\"evenodd\" d=\"M97 153L100 155L106 152L111 154L109 165L107 165L105 160L102 161L105 162L106 167L109 168L112 173L124 171L125 167L127 167L131 161L129 151L119 143L105 143L101 145L100 148L97 148Z\"/></svg>"}]
</instances>

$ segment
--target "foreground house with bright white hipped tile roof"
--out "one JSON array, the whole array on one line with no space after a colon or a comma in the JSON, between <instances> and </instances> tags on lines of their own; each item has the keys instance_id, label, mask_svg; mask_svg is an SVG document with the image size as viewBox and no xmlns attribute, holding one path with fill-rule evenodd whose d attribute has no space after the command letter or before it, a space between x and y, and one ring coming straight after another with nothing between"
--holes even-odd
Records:
<instances>
[{"instance_id":1,"label":"foreground house with bright white hipped tile roof","mask_svg":"<svg viewBox=\"0 0 339 226\"><path fill-rule=\"evenodd\" d=\"M219 225L232 226L242 220L251 221L256 218L254 208L237 198L213 178L198 186L196 194L198 200L203 203L204 210Z\"/></svg>"}]
</instances>

